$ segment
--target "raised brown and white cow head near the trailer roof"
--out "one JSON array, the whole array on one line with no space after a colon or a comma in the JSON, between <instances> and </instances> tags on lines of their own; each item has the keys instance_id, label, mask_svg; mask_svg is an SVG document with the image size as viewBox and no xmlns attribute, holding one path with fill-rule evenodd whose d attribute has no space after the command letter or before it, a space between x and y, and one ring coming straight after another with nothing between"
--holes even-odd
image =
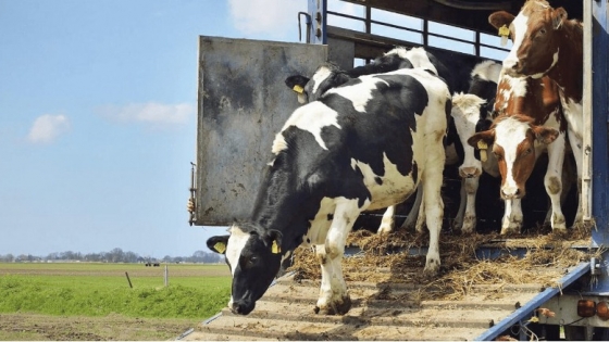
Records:
<instances>
[{"instance_id":1,"label":"raised brown and white cow head near the trailer roof","mask_svg":"<svg viewBox=\"0 0 609 342\"><path fill-rule=\"evenodd\" d=\"M509 27L512 49L504 60L504 69L511 76L539 78L558 62L561 33L567 11L552 9L546 1L529 0L518 15L499 11L488 22L495 28Z\"/></svg>"}]
</instances>

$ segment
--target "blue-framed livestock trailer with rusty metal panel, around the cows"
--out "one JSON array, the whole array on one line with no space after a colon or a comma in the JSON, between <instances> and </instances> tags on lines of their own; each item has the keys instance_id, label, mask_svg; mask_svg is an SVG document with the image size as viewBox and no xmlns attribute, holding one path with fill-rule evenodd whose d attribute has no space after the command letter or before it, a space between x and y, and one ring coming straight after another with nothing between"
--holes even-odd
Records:
<instances>
[{"instance_id":1,"label":"blue-framed livestock trailer with rusty metal panel, around the cows","mask_svg":"<svg viewBox=\"0 0 609 342\"><path fill-rule=\"evenodd\" d=\"M301 42L200 37L191 225L227 226L249 214L272 139L299 105L284 85L287 76L312 75L326 61L351 68L353 63L368 63L395 46L422 46L460 59L501 61L509 46L501 46L488 15L499 10L515 14L524 2L303 1L308 11L294 13ZM609 262L604 252L609 246L609 7L607 0L549 2L584 23L584 172L577 200L582 201L586 225L592 227L592 238L580 248L597 250L600 257L572 268L560 287L520 303L477 340L495 340L513 326L527 325L538 307L556 313L543 324L548 329L560 327L566 333L562 338L609 339ZM346 13L340 10L343 4L357 11Z\"/></svg>"}]
</instances>

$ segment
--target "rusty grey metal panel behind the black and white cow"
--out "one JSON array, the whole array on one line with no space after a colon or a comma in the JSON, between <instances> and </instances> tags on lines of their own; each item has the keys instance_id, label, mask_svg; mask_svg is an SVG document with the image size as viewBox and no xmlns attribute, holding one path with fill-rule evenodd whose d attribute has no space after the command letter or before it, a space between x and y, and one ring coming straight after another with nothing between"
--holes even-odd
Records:
<instances>
[{"instance_id":1,"label":"rusty grey metal panel behind the black and white cow","mask_svg":"<svg viewBox=\"0 0 609 342\"><path fill-rule=\"evenodd\" d=\"M250 214L273 138L299 105L284 80L326 58L320 45L199 38L195 225Z\"/></svg>"}]
</instances>

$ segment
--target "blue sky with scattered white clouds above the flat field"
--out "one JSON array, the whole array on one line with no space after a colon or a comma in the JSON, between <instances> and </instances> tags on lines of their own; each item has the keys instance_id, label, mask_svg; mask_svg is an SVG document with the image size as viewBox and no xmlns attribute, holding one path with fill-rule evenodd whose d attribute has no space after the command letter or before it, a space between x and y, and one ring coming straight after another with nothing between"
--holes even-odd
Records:
<instances>
[{"instance_id":1,"label":"blue sky with scattered white clouds above the flat field","mask_svg":"<svg viewBox=\"0 0 609 342\"><path fill-rule=\"evenodd\" d=\"M335 0L328 7L362 13ZM186 212L198 36L298 41L306 8L306 0L0 0L0 254L207 251L206 240L224 229L190 227ZM361 26L340 21L328 18Z\"/></svg>"}]
</instances>

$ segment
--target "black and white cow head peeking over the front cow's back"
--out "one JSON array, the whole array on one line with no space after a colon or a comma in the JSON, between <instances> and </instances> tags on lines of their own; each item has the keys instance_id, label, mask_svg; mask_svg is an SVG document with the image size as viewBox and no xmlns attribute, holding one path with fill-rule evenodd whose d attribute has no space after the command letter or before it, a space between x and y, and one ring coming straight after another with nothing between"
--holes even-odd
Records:
<instances>
[{"instance_id":1,"label":"black and white cow head peeking over the front cow's back","mask_svg":"<svg viewBox=\"0 0 609 342\"><path fill-rule=\"evenodd\" d=\"M298 94L299 103L319 100L328 89L347 83L349 77L334 64L323 64L308 78L302 75L293 75L285 79L286 86Z\"/></svg>"}]
</instances>

